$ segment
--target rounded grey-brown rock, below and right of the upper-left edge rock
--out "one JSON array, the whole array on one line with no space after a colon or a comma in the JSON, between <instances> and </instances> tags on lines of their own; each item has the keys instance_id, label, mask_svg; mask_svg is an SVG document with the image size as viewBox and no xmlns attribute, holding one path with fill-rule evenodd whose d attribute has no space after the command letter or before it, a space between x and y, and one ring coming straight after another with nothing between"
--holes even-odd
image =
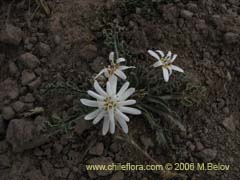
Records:
<instances>
[{"instance_id":1,"label":"rounded grey-brown rock, below and right of the upper-left edge rock","mask_svg":"<svg viewBox=\"0 0 240 180\"><path fill-rule=\"evenodd\" d=\"M34 69L39 66L40 61L38 58L31 53L24 53L20 56L19 61L29 69Z\"/></svg>"}]
</instances>

